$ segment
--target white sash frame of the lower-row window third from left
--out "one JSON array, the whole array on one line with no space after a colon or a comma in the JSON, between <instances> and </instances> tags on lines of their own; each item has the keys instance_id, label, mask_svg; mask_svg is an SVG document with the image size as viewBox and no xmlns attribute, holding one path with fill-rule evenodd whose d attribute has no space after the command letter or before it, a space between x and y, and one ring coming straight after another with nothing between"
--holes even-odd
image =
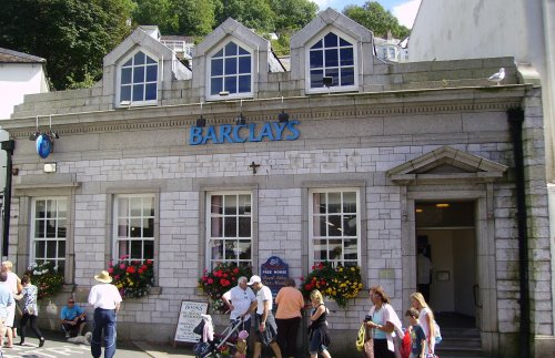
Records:
<instances>
[{"instance_id":1,"label":"white sash frame of the lower-row window third from left","mask_svg":"<svg viewBox=\"0 0 555 358\"><path fill-rule=\"evenodd\" d=\"M250 198L251 198L251 212L250 212L250 215L239 215L239 212L236 212L234 215L225 215L225 213L222 213L222 214L212 214L211 213L211 209L212 209L212 196L231 196L231 195L235 195L235 196L240 196L240 195L249 195ZM253 193L251 191L225 191L225 192L208 192L206 193L206 196L205 196L205 200L206 200L206 226L205 226L205 237L206 237L206 243L205 243L205 267L209 268L209 269L212 269L215 267L214 263L215 262L225 262L225 263L236 263L236 264L240 264L240 263L246 263L249 266L252 266L253 263L254 263L254 225L253 225L253 222L254 222L254 203L253 203ZM222 203L223 205L223 203ZM239 202L238 202L238 205L239 205ZM239 241L248 241L250 239L251 241L251 258L250 259L239 259L239 255L238 255L238 258L236 259L225 259L225 258L222 258L222 259L214 259L212 257L212 249L211 249L211 243L212 241L216 241L216 239L224 239L224 236L222 237L216 237L216 236L212 236L212 217L225 217L225 216L235 216L235 217L249 217L251 218L251 236L250 237L240 237L239 236L239 221L236 221L236 225L238 225L238 229L236 229L236 235L235 235L235 242L239 243ZM223 223L223 221L222 221ZM222 235L225 231L225 226L222 227ZM232 241L233 238L228 238L228 241ZM238 247L238 246L235 246Z\"/></svg>"}]
</instances>

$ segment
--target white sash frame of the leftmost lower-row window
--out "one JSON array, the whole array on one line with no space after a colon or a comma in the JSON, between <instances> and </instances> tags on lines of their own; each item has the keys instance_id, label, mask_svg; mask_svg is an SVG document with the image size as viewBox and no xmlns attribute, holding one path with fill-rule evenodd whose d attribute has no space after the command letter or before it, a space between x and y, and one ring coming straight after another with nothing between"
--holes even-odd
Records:
<instances>
[{"instance_id":1,"label":"white sash frame of the leftmost lower-row window","mask_svg":"<svg viewBox=\"0 0 555 358\"><path fill-rule=\"evenodd\" d=\"M65 237L60 238L58 237L58 229L56 229L56 237L37 237L34 236L34 233L36 233L36 228L37 228L37 202L39 201L44 201L47 203L47 207L48 207L48 202L56 202L56 217L52 217L50 218L49 221L54 221L56 223L56 227L58 227L58 222L61 221L61 219L64 219L65 221ZM59 216L58 213L58 208L59 208L59 202L60 201L64 201L65 202L65 216ZM39 242L39 241L43 241L43 242L64 242L65 243L65 253L63 255L63 257L60 257L59 256L59 245L57 245L57 253L56 253L56 257L53 258L53 260L56 262L56 265L57 267L59 267L58 265L58 262L63 262L63 265L64 267L68 265L68 249L69 249L69 243L68 243L68 226L69 226L69 198L67 196L37 196L37 197L33 197L31 200L31 225L30 225L30 241L29 241L29 245L30 245L30 249L29 249L29 258L30 258L30 262L31 263L37 263L37 260L41 260L40 263L42 262L51 262L52 258L48 258L48 257L37 257L37 252L36 252L36 243ZM44 232L46 233L46 232ZM48 252L48 248L44 247L44 256L47 256L47 252ZM39 264L39 263L38 263ZM64 269L63 270L58 270L59 273L61 274L64 274Z\"/></svg>"}]
</instances>

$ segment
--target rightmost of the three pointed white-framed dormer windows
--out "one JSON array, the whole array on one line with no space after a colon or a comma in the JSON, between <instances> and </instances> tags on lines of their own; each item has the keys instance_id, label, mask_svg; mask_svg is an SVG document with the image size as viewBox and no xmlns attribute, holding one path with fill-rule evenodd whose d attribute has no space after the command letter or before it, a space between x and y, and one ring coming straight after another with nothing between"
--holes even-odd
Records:
<instances>
[{"instance_id":1,"label":"rightmost of the three pointed white-framed dormer windows","mask_svg":"<svg viewBox=\"0 0 555 358\"><path fill-rule=\"evenodd\" d=\"M357 90L355 41L329 32L307 48L307 93ZM327 89L324 78L331 78Z\"/></svg>"}]
</instances>

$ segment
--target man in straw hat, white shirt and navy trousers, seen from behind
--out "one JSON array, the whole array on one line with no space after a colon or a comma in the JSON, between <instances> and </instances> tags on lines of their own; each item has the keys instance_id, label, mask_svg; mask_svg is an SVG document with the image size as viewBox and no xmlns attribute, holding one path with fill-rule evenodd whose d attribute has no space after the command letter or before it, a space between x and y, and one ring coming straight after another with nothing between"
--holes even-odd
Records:
<instances>
[{"instance_id":1,"label":"man in straw hat, white shirt and navy trousers, seen from behind","mask_svg":"<svg viewBox=\"0 0 555 358\"><path fill-rule=\"evenodd\" d=\"M108 272L94 275L100 284L92 286L89 293L89 304L94 306L94 329L92 330L91 354L99 358L102 355L102 330L104 331L104 358L115 354L115 315L120 310L121 295Z\"/></svg>"}]
</instances>

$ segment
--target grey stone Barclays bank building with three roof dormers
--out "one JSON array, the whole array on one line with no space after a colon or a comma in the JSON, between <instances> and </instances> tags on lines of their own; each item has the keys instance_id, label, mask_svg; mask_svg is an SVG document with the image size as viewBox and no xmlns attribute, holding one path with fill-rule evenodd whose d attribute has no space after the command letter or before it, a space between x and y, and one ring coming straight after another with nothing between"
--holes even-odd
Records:
<instances>
[{"instance_id":1,"label":"grey stone Barclays bank building with three roof dormers","mask_svg":"<svg viewBox=\"0 0 555 358\"><path fill-rule=\"evenodd\" d=\"M370 286L382 285L400 315L410 306L422 241L433 254L432 306L471 317L490 356L513 357L519 273L507 111L519 109L531 326L549 340L541 89L508 58L384 64L372 41L329 9L292 38L287 72L268 41L229 19L195 48L190 71L135 30L104 58L94 88L28 95L2 122L18 170L8 256L22 272L54 255L84 301L110 259L152 255L157 287L124 301L119 335L160 341L173 339L181 300L206 299L196 280L215 262L258 273L279 256L297 282L324 259L356 264L364 290L347 309L331 304L340 352L353 350ZM492 86L500 67L507 78ZM289 122L278 121L282 111ZM29 134L49 130L50 116L60 137L41 158ZM37 234L52 223L63 229ZM58 309L49 304L42 324L56 327ZM534 347L539 357L547 346Z\"/></svg>"}]
</instances>

